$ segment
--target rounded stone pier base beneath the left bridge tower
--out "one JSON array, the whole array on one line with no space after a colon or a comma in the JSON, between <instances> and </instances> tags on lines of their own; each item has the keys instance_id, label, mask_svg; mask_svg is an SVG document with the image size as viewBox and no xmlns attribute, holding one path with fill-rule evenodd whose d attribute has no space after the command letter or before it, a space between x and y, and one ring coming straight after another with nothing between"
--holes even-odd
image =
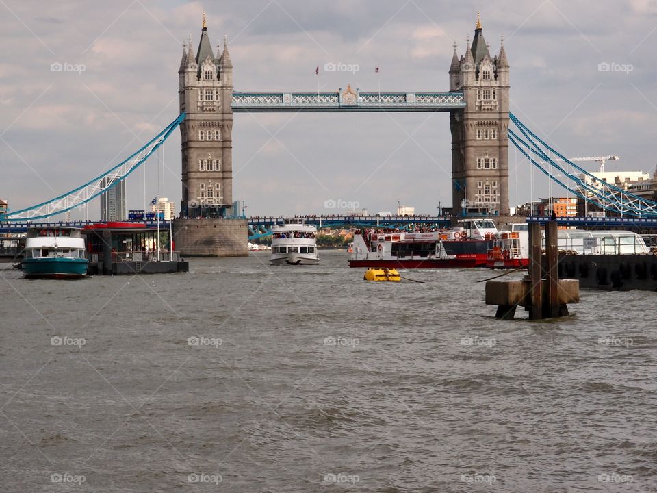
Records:
<instances>
[{"instance_id":1,"label":"rounded stone pier base beneath the left bridge tower","mask_svg":"<svg viewBox=\"0 0 657 493\"><path fill-rule=\"evenodd\" d=\"M176 219L175 249L183 257L246 257L246 219Z\"/></svg>"}]
</instances>

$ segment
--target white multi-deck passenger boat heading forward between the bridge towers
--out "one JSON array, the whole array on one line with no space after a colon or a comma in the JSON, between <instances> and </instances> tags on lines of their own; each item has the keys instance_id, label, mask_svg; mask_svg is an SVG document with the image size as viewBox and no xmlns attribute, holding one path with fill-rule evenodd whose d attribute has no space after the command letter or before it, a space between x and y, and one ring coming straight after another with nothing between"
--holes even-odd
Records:
<instances>
[{"instance_id":1,"label":"white multi-deck passenger boat heading forward between the bridge towers","mask_svg":"<svg viewBox=\"0 0 657 493\"><path fill-rule=\"evenodd\" d=\"M315 236L317 228L307 225L302 218L284 219L282 225L272 228L272 255L274 265L319 264Z\"/></svg>"}]
</instances>

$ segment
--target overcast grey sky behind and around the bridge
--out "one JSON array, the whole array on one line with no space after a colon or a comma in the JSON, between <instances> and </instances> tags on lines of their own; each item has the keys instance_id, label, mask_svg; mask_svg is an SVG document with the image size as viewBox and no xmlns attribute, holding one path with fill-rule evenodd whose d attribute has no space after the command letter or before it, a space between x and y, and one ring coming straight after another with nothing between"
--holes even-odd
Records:
<instances>
[{"instance_id":1,"label":"overcast grey sky behind and around the bridge","mask_svg":"<svg viewBox=\"0 0 657 493\"><path fill-rule=\"evenodd\" d=\"M0 198L12 210L68 192L141 147L179 113L181 45L228 36L235 90L444 91L452 44L481 10L491 53L504 36L511 110L564 154L620 155L608 170L657 164L657 2L436 0L112 2L0 0ZM329 62L356 73L324 72ZM84 71L51 71L51 64ZM600 71L601 63L617 64ZM70 67L69 68L72 68ZM381 66L380 75L374 68ZM450 205L448 113L235 114L233 196L249 215ZM511 205L548 194L510 149ZM595 163L585 166L595 169ZM179 210L180 134L164 146L164 194ZM144 207L141 173L127 207ZM157 193L157 160L146 169ZM73 217L83 217L77 212ZM97 201L90 207L97 218Z\"/></svg>"}]
</instances>

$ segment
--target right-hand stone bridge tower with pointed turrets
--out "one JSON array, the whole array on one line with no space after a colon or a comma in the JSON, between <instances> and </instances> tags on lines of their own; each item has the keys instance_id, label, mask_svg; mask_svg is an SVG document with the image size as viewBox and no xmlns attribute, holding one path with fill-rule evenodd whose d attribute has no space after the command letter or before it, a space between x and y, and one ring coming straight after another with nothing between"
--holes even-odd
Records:
<instances>
[{"instance_id":1,"label":"right-hand stone bridge tower with pointed turrets","mask_svg":"<svg viewBox=\"0 0 657 493\"><path fill-rule=\"evenodd\" d=\"M450 112L452 131L452 207L508 214L508 60L504 42L491 57L477 14L472 47L456 53L450 91L463 91L465 108Z\"/></svg>"}]
</instances>

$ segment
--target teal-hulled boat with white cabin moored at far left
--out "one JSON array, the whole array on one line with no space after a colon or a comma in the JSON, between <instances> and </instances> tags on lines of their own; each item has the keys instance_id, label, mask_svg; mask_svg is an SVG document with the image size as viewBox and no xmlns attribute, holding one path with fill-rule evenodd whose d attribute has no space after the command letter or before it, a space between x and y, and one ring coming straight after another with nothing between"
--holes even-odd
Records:
<instances>
[{"instance_id":1,"label":"teal-hulled boat with white cabin moored at far left","mask_svg":"<svg viewBox=\"0 0 657 493\"><path fill-rule=\"evenodd\" d=\"M79 279L87 274L89 261L80 229L40 227L27 231L21 262L27 279Z\"/></svg>"}]
</instances>

